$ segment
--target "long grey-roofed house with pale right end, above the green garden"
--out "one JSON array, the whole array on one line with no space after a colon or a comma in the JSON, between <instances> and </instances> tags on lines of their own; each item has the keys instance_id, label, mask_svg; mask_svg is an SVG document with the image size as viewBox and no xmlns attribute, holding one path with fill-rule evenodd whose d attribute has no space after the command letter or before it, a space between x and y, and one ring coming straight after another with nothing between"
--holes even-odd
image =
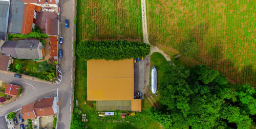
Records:
<instances>
[{"instance_id":1,"label":"long grey-roofed house with pale right end, above the green garden","mask_svg":"<svg viewBox=\"0 0 256 129\"><path fill-rule=\"evenodd\" d=\"M39 40L5 41L1 54L18 59L43 59L44 50Z\"/></svg>"}]
</instances>

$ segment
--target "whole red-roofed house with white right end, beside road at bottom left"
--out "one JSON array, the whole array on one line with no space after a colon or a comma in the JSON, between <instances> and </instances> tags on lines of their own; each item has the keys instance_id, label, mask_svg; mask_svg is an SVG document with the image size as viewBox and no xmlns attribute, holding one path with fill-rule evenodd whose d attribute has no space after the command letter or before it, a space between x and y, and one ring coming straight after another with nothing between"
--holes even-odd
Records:
<instances>
[{"instance_id":1,"label":"whole red-roofed house with white right end, beside road at bottom left","mask_svg":"<svg viewBox=\"0 0 256 129\"><path fill-rule=\"evenodd\" d=\"M57 98L41 98L22 107L22 117L24 119L34 119L36 117L53 116L57 113Z\"/></svg>"}]
</instances>

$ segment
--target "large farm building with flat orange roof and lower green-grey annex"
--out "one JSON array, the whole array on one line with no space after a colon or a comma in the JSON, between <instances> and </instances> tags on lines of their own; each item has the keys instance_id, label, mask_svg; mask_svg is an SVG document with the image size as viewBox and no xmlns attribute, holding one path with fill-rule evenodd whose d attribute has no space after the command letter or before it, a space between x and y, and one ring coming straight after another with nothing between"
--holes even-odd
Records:
<instances>
[{"instance_id":1,"label":"large farm building with flat orange roof and lower green-grey annex","mask_svg":"<svg viewBox=\"0 0 256 129\"><path fill-rule=\"evenodd\" d=\"M133 59L87 62L87 99L97 110L141 112L141 99L134 99Z\"/></svg>"}]
</instances>

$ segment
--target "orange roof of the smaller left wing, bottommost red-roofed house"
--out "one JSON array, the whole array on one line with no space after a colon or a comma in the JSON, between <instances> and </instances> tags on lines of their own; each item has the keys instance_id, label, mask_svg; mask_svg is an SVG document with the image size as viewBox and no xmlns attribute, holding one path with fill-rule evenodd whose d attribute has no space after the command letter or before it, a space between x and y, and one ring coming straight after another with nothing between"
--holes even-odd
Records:
<instances>
[{"instance_id":1,"label":"orange roof of the smaller left wing, bottommost red-roofed house","mask_svg":"<svg viewBox=\"0 0 256 129\"><path fill-rule=\"evenodd\" d=\"M36 118L35 113L34 113L34 104L35 102L32 102L24 107L22 107L22 117L24 119L33 119Z\"/></svg>"}]
</instances>

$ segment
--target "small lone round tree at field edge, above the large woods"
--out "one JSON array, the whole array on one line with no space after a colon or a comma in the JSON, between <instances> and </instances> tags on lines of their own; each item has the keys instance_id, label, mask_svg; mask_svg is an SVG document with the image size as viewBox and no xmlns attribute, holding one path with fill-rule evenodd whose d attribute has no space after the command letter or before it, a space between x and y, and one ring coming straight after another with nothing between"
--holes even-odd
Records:
<instances>
[{"instance_id":1,"label":"small lone round tree at field edge, above the large woods","mask_svg":"<svg viewBox=\"0 0 256 129\"><path fill-rule=\"evenodd\" d=\"M193 58L197 53L197 43L194 41L182 41L179 44L179 53L182 56Z\"/></svg>"}]
</instances>

